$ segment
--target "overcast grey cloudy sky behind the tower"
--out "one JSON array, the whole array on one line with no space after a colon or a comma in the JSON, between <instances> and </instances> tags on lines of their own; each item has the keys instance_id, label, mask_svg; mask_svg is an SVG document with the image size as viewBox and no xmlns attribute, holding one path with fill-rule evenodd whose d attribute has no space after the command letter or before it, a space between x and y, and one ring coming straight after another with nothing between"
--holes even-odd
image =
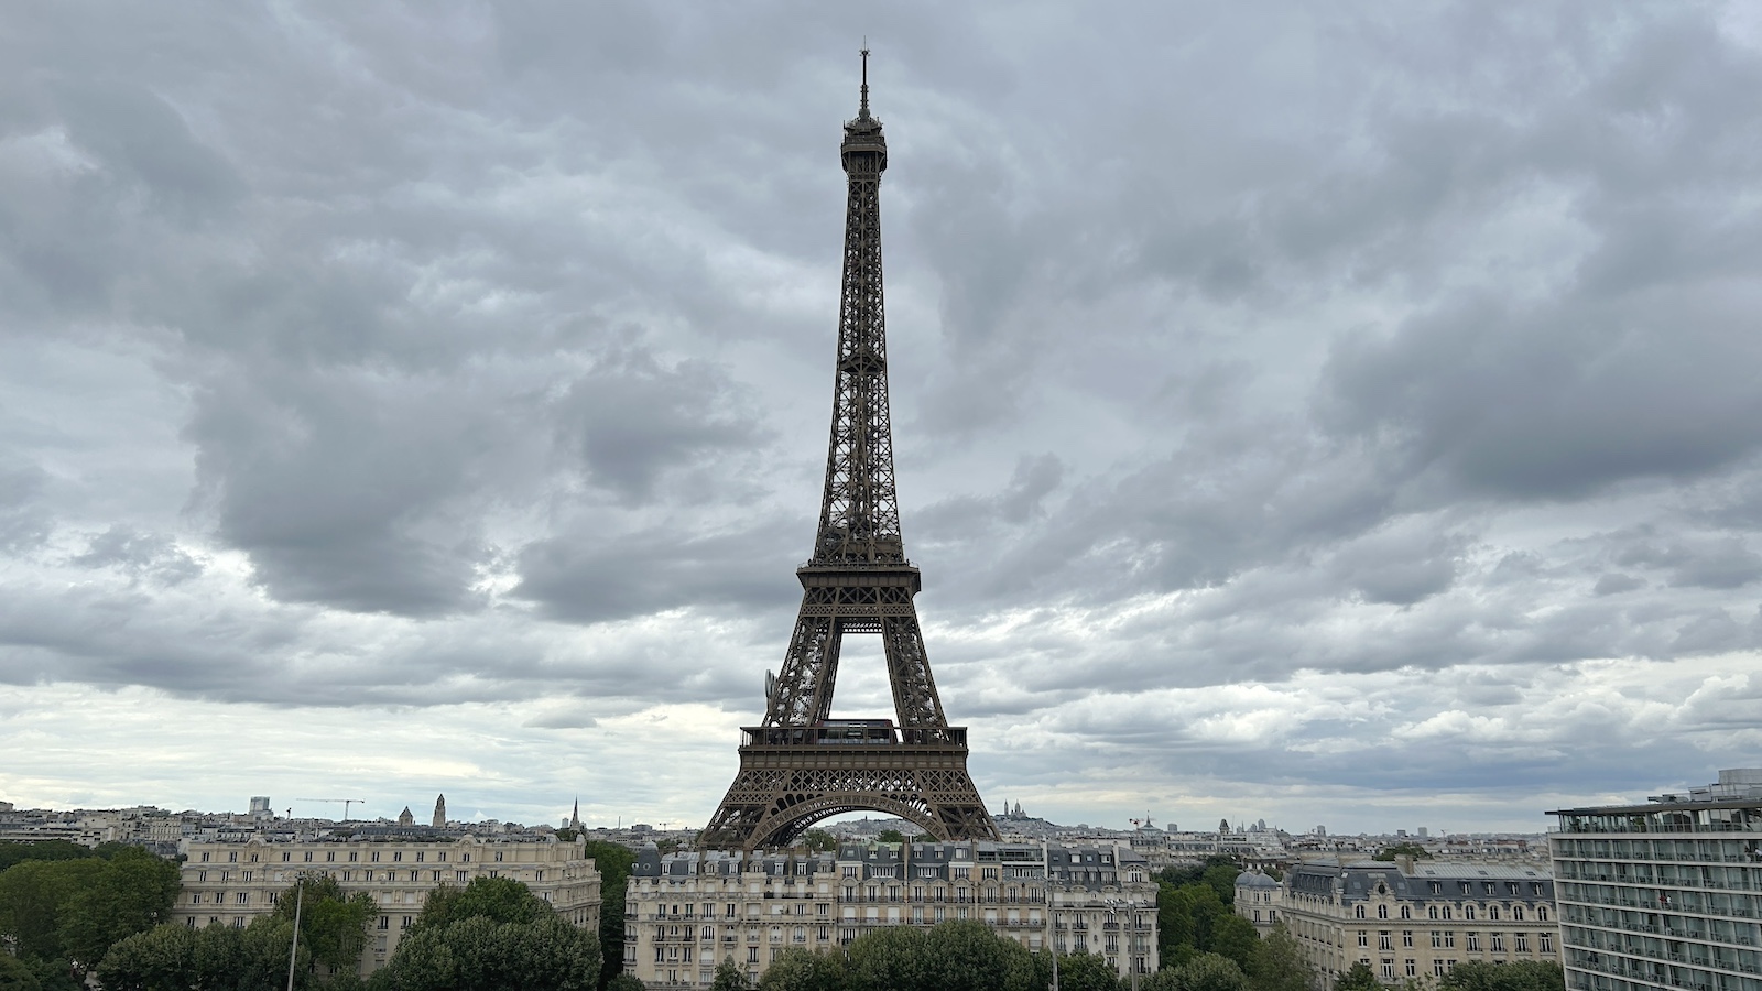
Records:
<instances>
[{"instance_id":1,"label":"overcast grey cloudy sky behind the tower","mask_svg":"<svg viewBox=\"0 0 1762 991\"><path fill-rule=\"evenodd\" d=\"M1762 765L1753 4L16 0L0 799L707 822L865 35L992 808L1529 831Z\"/></svg>"}]
</instances>

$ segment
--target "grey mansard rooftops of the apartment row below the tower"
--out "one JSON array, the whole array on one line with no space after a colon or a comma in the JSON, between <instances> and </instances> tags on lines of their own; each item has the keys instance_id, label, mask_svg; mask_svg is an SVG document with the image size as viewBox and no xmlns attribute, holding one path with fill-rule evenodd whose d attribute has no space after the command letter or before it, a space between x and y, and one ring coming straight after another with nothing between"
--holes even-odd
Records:
<instances>
[{"instance_id":1,"label":"grey mansard rooftops of the apartment row below the tower","mask_svg":"<svg viewBox=\"0 0 1762 991\"><path fill-rule=\"evenodd\" d=\"M955 868L1006 868L1004 878L1048 878L1084 887L1117 887L1121 869L1138 869L1149 880L1144 855L1129 846L1059 846L1040 843L842 843L833 852L758 852L703 850L661 853L647 843L636 850L634 878L740 876L774 878L842 876L846 868L860 868L869 878L943 878ZM974 878L978 880L978 878ZM1003 880L1003 878L999 878Z\"/></svg>"}]
</instances>

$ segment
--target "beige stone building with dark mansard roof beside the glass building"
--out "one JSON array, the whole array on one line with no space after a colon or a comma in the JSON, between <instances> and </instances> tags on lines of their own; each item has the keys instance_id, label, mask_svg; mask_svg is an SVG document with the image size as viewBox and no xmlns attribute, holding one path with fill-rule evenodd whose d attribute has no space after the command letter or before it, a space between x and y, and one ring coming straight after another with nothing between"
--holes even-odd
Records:
<instances>
[{"instance_id":1,"label":"beige stone building with dark mansard roof beside the glass building","mask_svg":"<svg viewBox=\"0 0 1762 991\"><path fill-rule=\"evenodd\" d=\"M1235 912L1270 929L1283 919L1323 986L1364 963L1383 984L1441 977L1462 961L1559 959L1554 878L1498 864L1307 862L1267 892L1251 875Z\"/></svg>"}]
</instances>

